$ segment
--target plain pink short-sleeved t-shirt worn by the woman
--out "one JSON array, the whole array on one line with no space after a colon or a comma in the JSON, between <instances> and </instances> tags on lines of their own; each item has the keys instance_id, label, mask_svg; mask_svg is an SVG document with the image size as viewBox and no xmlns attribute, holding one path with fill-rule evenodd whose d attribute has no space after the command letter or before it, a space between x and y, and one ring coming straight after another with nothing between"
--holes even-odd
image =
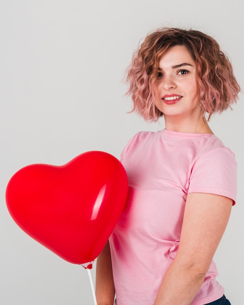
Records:
<instances>
[{"instance_id":1,"label":"plain pink short-sleeved t-shirt worn by the woman","mask_svg":"<svg viewBox=\"0 0 244 305\"><path fill-rule=\"evenodd\" d=\"M121 154L129 195L110 237L117 305L152 305L175 258L187 194L205 192L236 200L233 152L213 134L137 133ZM221 298L214 262L192 305Z\"/></svg>"}]
</instances>

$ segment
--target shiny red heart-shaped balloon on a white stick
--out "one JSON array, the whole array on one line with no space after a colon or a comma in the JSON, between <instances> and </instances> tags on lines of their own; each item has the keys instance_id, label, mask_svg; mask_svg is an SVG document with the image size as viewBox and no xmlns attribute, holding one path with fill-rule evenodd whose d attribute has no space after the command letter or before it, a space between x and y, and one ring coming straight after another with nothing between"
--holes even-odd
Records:
<instances>
[{"instance_id":1,"label":"shiny red heart-shaped balloon on a white stick","mask_svg":"<svg viewBox=\"0 0 244 305\"><path fill-rule=\"evenodd\" d=\"M6 188L17 225L73 264L94 261L124 208L128 180L107 152L84 152L62 166L28 165Z\"/></svg>"}]
</instances>

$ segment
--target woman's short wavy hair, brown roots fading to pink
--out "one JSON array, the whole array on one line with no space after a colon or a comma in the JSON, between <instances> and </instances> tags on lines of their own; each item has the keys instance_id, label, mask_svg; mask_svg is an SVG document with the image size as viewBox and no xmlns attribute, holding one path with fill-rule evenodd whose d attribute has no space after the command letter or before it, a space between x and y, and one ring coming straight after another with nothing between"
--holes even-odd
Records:
<instances>
[{"instance_id":1,"label":"woman's short wavy hair, brown roots fading to pink","mask_svg":"<svg viewBox=\"0 0 244 305\"><path fill-rule=\"evenodd\" d=\"M133 101L131 112L135 111L149 121L157 121L163 115L154 104L152 84L158 74L160 57L176 45L186 46L197 64L203 115L208 113L209 120L213 113L231 108L238 98L240 86L232 64L218 42L200 31L163 27L149 33L133 53L126 76L127 95L131 95Z\"/></svg>"}]
</instances>

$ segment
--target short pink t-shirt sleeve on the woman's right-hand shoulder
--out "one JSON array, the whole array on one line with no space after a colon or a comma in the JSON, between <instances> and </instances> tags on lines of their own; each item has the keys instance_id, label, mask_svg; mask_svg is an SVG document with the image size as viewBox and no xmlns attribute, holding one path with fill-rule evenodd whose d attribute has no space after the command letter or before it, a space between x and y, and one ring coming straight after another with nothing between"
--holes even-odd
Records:
<instances>
[{"instance_id":1,"label":"short pink t-shirt sleeve on the woman's right-hand shoulder","mask_svg":"<svg viewBox=\"0 0 244 305\"><path fill-rule=\"evenodd\" d=\"M189 179L188 193L222 195L236 202L237 163L228 148L217 148L198 159Z\"/></svg>"}]
</instances>

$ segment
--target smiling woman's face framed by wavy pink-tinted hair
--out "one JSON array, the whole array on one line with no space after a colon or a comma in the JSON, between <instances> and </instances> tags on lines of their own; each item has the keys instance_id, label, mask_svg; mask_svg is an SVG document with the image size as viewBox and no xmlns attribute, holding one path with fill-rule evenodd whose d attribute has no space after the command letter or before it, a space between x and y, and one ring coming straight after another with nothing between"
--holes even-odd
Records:
<instances>
[{"instance_id":1,"label":"smiling woman's face framed by wavy pink-tinted hair","mask_svg":"<svg viewBox=\"0 0 244 305\"><path fill-rule=\"evenodd\" d=\"M201 116L197 79L196 62L185 46L173 46L160 57L153 90L165 119Z\"/></svg>"}]
</instances>

